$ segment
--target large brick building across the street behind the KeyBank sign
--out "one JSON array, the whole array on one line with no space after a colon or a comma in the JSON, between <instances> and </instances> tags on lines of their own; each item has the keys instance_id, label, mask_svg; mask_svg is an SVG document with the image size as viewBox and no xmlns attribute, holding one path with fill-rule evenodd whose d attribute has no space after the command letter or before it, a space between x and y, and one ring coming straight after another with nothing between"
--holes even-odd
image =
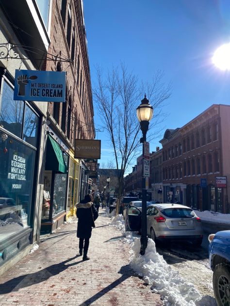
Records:
<instances>
[{"instance_id":1,"label":"large brick building across the street behind the KeyBank sign","mask_svg":"<svg viewBox=\"0 0 230 306\"><path fill-rule=\"evenodd\" d=\"M229 213L230 106L212 105L192 121L167 129L163 146L164 202ZM227 178L227 184L217 179Z\"/></svg>"}]
</instances>

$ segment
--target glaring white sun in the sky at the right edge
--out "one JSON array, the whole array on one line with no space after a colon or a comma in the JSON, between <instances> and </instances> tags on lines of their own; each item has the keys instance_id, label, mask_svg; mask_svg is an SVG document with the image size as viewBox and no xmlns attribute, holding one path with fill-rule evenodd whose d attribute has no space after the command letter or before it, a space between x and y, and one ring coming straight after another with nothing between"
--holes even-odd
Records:
<instances>
[{"instance_id":1,"label":"glaring white sun in the sky at the right edge","mask_svg":"<svg viewBox=\"0 0 230 306\"><path fill-rule=\"evenodd\" d=\"M213 63L221 70L230 70L230 43L220 46L215 51Z\"/></svg>"}]
</instances>

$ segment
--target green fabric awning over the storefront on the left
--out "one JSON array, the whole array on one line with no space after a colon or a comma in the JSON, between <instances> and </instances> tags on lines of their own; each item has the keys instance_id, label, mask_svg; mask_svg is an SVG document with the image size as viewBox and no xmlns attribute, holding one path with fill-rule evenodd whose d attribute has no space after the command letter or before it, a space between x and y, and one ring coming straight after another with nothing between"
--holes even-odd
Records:
<instances>
[{"instance_id":1,"label":"green fabric awning over the storefront on the left","mask_svg":"<svg viewBox=\"0 0 230 306\"><path fill-rule=\"evenodd\" d=\"M48 135L46 151L46 170L67 173L66 163L63 158L63 152L58 143Z\"/></svg>"}]
</instances>

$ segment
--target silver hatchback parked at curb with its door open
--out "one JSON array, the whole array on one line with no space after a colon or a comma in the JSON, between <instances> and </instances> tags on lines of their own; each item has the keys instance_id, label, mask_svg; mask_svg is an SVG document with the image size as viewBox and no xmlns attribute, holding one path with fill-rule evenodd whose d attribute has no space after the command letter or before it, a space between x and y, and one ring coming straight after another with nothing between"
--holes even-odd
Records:
<instances>
[{"instance_id":1,"label":"silver hatchback parked at curb with its door open","mask_svg":"<svg viewBox=\"0 0 230 306\"><path fill-rule=\"evenodd\" d=\"M126 230L141 228L141 211L129 206L124 214ZM151 204L147 207L147 234L158 240L184 240L201 245L203 229L201 219L188 206L181 204Z\"/></svg>"}]
</instances>

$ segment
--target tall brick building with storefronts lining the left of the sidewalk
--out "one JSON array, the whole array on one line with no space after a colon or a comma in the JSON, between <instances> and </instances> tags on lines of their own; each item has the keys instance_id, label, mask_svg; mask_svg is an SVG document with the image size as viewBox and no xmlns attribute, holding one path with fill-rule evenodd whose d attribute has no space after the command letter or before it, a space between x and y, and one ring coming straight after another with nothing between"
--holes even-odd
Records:
<instances>
[{"instance_id":1,"label":"tall brick building with storefronts lining the left of the sidewalk","mask_svg":"<svg viewBox=\"0 0 230 306\"><path fill-rule=\"evenodd\" d=\"M66 96L14 100L16 70L65 73ZM21 88L26 78L16 79ZM82 1L1 0L0 274L90 190L74 140L95 138L93 116Z\"/></svg>"}]
</instances>

